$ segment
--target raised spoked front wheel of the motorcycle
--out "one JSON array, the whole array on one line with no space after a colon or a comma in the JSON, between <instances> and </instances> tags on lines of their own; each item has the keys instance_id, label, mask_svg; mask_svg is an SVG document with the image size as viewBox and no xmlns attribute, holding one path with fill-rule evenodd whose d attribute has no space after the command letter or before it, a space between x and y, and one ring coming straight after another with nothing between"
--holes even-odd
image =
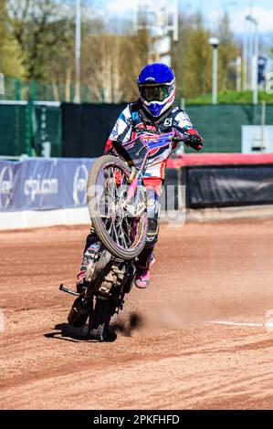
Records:
<instances>
[{"instance_id":1,"label":"raised spoked front wheel of the motorcycle","mask_svg":"<svg viewBox=\"0 0 273 429\"><path fill-rule=\"evenodd\" d=\"M134 259L146 242L147 213L145 190L137 191L133 210L126 206L131 169L111 155L96 160L87 182L87 203L93 228L113 256Z\"/></svg>"}]
</instances>

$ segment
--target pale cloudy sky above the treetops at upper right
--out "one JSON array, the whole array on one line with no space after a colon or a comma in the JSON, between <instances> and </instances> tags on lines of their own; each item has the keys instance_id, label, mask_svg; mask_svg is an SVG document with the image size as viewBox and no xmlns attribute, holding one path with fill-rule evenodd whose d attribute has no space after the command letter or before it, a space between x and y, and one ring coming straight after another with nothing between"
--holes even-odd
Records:
<instances>
[{"instance_id":1,"label":"pale cloudy sky above the treetops at upper right","mask_svg":"<svg viewBox=\"0 0 273 429\"><path fill-rule=\"evenodd\" d=\"M104 0L103 12L110 16L128 18L143 2L150 5L159 4L161 0ZM171 6L174 0L166 0ZM232 29L236 33L244 33L244 18L250 12L257 19L260 33L273 34L273 0L178 0L180 8L189 12L201 11L209 26L214 26L218 16L225 11L230 16ZM101 3L100 3L101 5ZM101 7L101 6L100 6Z\"/></svg>"}]
</instances>

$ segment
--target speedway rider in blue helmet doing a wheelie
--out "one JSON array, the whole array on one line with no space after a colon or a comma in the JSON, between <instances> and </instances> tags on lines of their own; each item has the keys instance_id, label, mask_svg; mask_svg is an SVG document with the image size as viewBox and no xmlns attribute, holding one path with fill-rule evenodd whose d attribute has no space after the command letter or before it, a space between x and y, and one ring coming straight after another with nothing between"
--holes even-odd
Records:
<instances>
[{"instance_id":1,"label":"speedway rider in blue helmet doing a wheelie","mask_svg":"<svg viewBox=\"0 0 273 429\"><path fill-rule=\"evenodd\" d=\"M128 104L116 121L110 138L106 143L105 153L115 154L112 141L131 141L139 131L156 132L157 134L173 131L177 140L184 141L188 146L200 151L204 140L194 130L184 110L173 105L175 96L175 78L172 68L164 64L150 64L142 69L137 81L140 98ZM177 144L177 143L176 143ZM173 143L172 149L176 145ZM148 235L146 245L138 256L135 267L135 285L147 288L150 281L150 267L154 261L153 249L158 239L159 196L164 180L165 165L171 150L164 151L161 156L150 159L144 175L144 185L148 197ZM87 237L84 256L78 274L77 288L84 285L84 276L92 257L95 257L100 243L94 231Z\"/></svg>"}]
</instances>

